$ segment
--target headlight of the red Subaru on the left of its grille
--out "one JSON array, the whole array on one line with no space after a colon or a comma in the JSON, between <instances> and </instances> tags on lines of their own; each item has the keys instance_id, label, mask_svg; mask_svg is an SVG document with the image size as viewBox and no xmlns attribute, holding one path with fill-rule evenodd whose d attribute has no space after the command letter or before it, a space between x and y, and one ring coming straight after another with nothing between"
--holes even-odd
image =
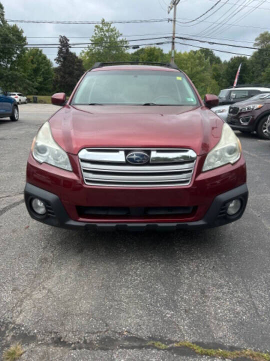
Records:
<instances>
[{"instance_id":1,"label":"headlight of the red Subaru on the left of its grille","mask_svg":"<svg viewBox=\"0 0 270 361\"><path fill-rule=\"evenodd\" d=\"M58 168L72 170L66 152L52 138L50 126L45 122L39 129L31 146L32 155L39 163L48 163Z\"/></svg>"}]
</instances>

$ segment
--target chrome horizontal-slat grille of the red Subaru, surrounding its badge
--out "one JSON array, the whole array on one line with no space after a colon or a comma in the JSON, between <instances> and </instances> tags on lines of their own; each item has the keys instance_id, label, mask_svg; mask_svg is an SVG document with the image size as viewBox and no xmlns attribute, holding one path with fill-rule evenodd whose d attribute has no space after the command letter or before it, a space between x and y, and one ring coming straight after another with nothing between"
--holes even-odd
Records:
<instances>
[{"instance_id":1,"label":"chrome horizontal-slat grille of the red Subaru, surrounding its badge","mask_svg":"<svg viewBox=\"0 0 270 361\"><path fill-rule=\"evenodd\" d=\"M130 152L144 152L145 164L130 164ZM191 182L196 154L191 149L86 148L79 153L86 185L106 187L171 187Z\"/></svg>"}]
</instances>

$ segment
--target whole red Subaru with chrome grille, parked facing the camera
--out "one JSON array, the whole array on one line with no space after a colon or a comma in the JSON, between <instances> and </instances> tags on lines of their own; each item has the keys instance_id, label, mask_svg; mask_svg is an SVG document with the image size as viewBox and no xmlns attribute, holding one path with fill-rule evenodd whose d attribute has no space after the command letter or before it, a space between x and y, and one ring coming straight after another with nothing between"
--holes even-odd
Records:
<instances>
[{"instance_id":1,"label":"whole red Subaru with chrome grille, parked facing the camera","mask_svg":"<svg viewBox=\"0 0 270 361\"><path fill-rule=\"evenodd\" d=\"M51 226L179 229L224 225L247 202L231 128L172 64L97 63L38 130L24 198Z\"/></svg>"}]
</instances>

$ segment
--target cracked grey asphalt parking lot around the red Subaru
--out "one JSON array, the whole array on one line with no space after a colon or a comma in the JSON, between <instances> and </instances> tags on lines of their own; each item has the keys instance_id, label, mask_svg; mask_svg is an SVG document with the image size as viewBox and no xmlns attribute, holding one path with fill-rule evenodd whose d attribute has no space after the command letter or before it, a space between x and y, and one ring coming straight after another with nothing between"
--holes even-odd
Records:
<instances>
[{"instance_id":1,"label":"cracked grey asphalt parking lot around the red Subaru","mask_svg":"<svg viewBox=\"0 0 270 361\"><path fill-rule=\"evenodd\" d=\"M269 351L270 141L237 133L249 202L236 223L61 230L33 221L23 203L32 138L56 110L20 105L18 122L0 120L1 350L21 341L28 361L214 359L150 341Z\"/></svg>"}]
</instances>

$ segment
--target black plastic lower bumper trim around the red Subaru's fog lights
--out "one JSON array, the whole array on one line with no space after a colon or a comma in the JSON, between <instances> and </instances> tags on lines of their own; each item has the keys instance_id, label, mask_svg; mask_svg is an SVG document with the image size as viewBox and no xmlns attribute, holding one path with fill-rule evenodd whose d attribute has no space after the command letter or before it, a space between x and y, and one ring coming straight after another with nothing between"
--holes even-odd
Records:
<instances>
[{"instance_id":1,"label":"black plastic lower bumper trim around the red Subaru's fog lights","mask_svg":"<svg viewBox=\"0 0 270 361\"><path fill-rule=\"evenodd\" d=\"M49 212L44 217L38 217L34 214L30 206L30 200L32 198L38 198L48 205L49 209L53 210L53 217ZM206 212L205 216L200 221L195 222L179 222L179 223L90 223L90 222L78 222L69 218L66 213L60 199L53 193L44 191L38 187L35 187L29 183L26 183L24 189L24 200L26 208L30 216L42 223L50 226L66 228L66 229L84 229L84 230L128 230L128 231L145 231L145 230L177 230L177 229L203 229L222 226L224 224L236 221L239 219L247 203L248 191L246 184L243 184L230 191L222 193L216 196ZM224 213L226 204L233 199L240 199L241 208L239 212L234 216L228 216ZM221 216L220 216L221 215Z\"/></svg>"}]
</instances>

